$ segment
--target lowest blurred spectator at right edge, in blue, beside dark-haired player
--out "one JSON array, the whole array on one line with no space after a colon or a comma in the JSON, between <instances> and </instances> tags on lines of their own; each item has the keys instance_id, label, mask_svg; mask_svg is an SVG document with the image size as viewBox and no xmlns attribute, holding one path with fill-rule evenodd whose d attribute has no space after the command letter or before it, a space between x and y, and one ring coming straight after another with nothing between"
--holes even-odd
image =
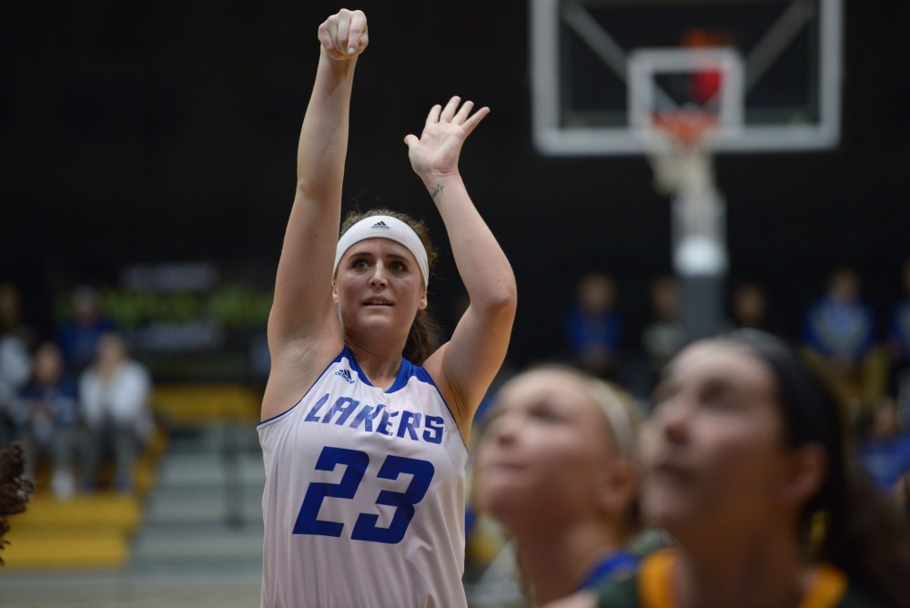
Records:
<instances>
[{"instance_id":1,"label":"lowest blurred spectator at right edge, in blue, beside dark-haired player","mask_svg":"<svg viewBox=\"0 0 910 608\"><path fill-rule=\"evenodd\" d=\"M885 396L873 411L860 441L860 456L866 471L888 492L910 472L910 431L901 428L893 396Z\"/></svg>"}]
</instances>

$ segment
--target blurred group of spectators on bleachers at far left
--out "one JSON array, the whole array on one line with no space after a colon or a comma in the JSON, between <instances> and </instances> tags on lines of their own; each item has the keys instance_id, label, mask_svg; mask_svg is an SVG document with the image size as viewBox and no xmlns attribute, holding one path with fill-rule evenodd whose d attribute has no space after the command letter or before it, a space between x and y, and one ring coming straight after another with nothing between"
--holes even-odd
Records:
<instances>
[{"instance_id":1,"label":"blurred group of spectators on bleachers at far left","mask_svg":"<svg viewBox=\"0 0 910 608\"><path fill-rule=\"evenodd\" d=\"M0 284L0 446L20 441L26 476L57 498L133 491L155 424L151 374L130 357L96 289L73 290L53 335L30 327L23 307L20 290Z\"/></svg>"}]
</instances>

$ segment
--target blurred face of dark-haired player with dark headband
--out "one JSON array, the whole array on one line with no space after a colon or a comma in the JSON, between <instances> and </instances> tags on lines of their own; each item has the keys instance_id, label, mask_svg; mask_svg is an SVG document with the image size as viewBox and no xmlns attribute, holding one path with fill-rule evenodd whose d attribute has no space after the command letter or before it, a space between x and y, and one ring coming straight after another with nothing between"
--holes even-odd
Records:
<instances>
[{"instance_id":1,"label":"blurred face of dark-haired player with dark headband","mask_svg":"<svg viewBox=\"0 0 910 608\"><path fill-rule=\"evenodd\" d=\"M683 350L642 428L642 510L681 540L773 517L788 450L767 365L722 341ZM763 519L764 518L764 519Z\"/></svg>"}]
</instances>

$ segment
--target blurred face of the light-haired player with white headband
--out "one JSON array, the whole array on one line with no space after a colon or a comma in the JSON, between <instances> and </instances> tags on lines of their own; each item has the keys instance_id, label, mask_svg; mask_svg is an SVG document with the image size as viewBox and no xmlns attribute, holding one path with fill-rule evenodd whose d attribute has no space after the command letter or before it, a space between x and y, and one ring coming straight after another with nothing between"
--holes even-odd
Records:
<instances>
[{"instance_id":1,"label":"blurred face of the light-haired player with white headband","mask_svg":"<svg viewBox=\"0 0 910 608\"><path fill-rule=\"evenodd\" d=\"M599 484L616 461L606 417L581 380L531 371L502 388L481 435L477 498L511 532L559 524L597 509Z\"/></svg>"}]
</instances>

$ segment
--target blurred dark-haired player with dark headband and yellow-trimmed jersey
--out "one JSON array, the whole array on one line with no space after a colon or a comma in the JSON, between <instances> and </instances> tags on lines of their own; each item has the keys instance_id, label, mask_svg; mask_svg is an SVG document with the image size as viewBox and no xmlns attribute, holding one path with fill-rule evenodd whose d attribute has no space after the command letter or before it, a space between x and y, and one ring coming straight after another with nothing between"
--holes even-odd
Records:
<instances>
[{"instance_id":1,"label":"blurred dark-haired player with dark headband and yellow-trimmed jersey","mask_svg":"<svg viewBox=\"0 0 910 608\"><path fill-rule=\"evenodd\" d=\"M598 605L910 605L906 523L851 463L833 393L778 339L683 350L640 445L643 513L679 546Z\"/></svg>"}]
</instances>

